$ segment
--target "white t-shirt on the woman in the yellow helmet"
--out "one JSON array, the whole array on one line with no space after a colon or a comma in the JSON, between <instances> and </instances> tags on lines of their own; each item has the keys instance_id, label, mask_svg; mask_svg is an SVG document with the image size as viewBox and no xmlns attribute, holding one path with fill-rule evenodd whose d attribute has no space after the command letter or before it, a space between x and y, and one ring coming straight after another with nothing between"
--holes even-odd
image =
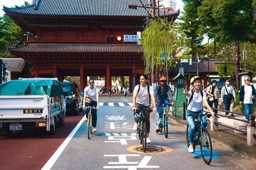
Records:
<instances>
[{"instance_id":1,"label":"white t-shirt on the woman in the yellow helmet","mask_svg":"<svg viewBox=\"0 0 256 170\"><path fill-rule=\"evenodd\" d=\"M203 98L207 99L207 96L204 92L204 90L202 90L203 92ZM189 91L188 92L191 96L192 92ZM187 96L186 96L187 97ZM188 102L190 101L190 97L187 97ZM203 108L203 104L202 104L202 96L201 96L201 92L199 92L198 94L196 92L194 92L193 98L190 102L190 105L188 105L188 110L192 111L192 112L197 112L199 110L201 110Z\"/></svg>"}]
</instances>

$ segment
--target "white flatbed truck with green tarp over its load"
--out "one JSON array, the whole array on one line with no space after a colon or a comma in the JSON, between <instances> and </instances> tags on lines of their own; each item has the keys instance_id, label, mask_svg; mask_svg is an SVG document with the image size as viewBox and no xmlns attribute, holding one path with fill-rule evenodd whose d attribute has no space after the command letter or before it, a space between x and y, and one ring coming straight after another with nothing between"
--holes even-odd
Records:
<instances>
[{"instance_id":1,"label":"white flatbed truck with green tarp over its load","mask_svg":"<svg viewBox=\"0 0 256 170\"><path fill-rule=\"evenodd\" d=\"M66 101L57 78L19 78L0 84L0 134L64 125ZM43 130L44 131L44 130Z\"/></svg>"}]
</instances>

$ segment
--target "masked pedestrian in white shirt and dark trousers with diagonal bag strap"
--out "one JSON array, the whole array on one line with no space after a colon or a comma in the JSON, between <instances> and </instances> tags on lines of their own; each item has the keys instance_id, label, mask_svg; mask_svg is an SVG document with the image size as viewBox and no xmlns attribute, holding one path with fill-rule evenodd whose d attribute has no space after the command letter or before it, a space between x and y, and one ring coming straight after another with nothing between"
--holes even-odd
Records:
<instances>
[{"instance_id":1,"label":"masked pedestrian in white shirt and dark trousers with diagonal bag strap","mask_svg":"<svg viewBox=\"0 0 256 170\"><path fill-rule=\"evenodd\" d=\"M233 101L235 101L235 90L230 86L229 80L226 80L225 85L221 89L221 103L224 103L226 111L230 111L230 104ZM229 114L229 112L226 112L227 115L234 116L233 114Z\"/></svg>"}]
</instances>

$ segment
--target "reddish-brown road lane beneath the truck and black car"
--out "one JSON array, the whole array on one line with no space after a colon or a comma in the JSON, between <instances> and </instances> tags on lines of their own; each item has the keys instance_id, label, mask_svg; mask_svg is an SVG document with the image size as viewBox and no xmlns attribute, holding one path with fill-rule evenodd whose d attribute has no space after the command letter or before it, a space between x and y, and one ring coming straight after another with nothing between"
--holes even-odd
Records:
<instances>
[{"instance_id":1,"label":"reddish-brown road lane beneath the truck and black car","mask_svg":"<svg viewBox=\"0 0 256 170\"><path fill-rule=\"evenodd\" d=\"M0 169L41 169L84 114L66 115L64 126L57 127L54 135L43 135L40 131L0 135Z\"/></svg>"}]
</instances>

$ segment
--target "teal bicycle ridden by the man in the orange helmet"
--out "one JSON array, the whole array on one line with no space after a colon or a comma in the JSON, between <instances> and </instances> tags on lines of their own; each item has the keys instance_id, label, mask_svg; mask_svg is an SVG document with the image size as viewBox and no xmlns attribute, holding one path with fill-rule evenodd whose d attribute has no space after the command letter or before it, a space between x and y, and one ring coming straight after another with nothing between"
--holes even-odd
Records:
<instances>
[{"instance_id":1,"label":"teal bicycle ridden by the man in the orange helmet","mask_svg":"<svg viewBox=\"0 0 256 170\"><path fill-rule=\"evenodd\" d=\"M165 138L168 137L168 115L166 114L166 110L168 109L166 106L171 106L171 104L162 104L162 111L160 114L160 123L159 123L159 128L160 128L160 132L164 132L165 133Z\"/></svg>"}]
</instances>

